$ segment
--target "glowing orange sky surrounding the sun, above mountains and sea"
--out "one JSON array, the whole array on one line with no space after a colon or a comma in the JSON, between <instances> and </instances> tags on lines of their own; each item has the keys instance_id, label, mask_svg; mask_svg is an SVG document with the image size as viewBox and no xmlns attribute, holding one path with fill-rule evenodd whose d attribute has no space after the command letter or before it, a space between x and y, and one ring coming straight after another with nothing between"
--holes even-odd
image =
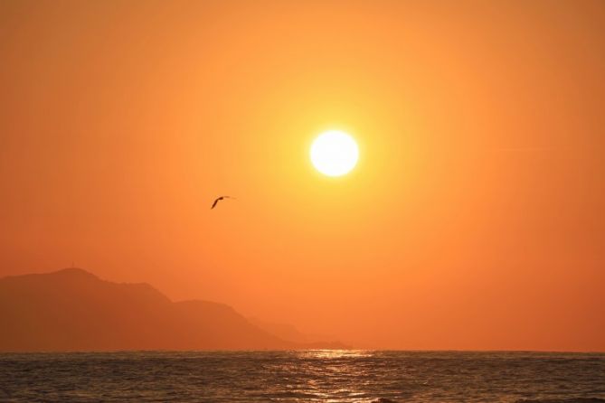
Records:
<instances>
[{"instance_id":1,"label":"glowing orange sky surrounding the sun, above mountains and sea","mask_svg":"<svg viewBox=\"0 0 605 403\"><path fill-rule=\"evenodd\" d=\"M605 350L600 0L9 0L0 55L0 276L74 261L361 347ZM341 178L307 155L329 128Z\"/></svg>"}]
</instances>

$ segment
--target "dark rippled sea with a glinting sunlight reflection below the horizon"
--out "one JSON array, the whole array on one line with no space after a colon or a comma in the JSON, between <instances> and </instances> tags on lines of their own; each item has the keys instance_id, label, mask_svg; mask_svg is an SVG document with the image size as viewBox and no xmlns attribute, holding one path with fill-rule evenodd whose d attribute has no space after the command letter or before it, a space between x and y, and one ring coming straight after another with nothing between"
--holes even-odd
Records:
<instances>
[{"instance_id":1,"label":"dark rippled sea with a glinting sunlight reflection below the horizon","mask_svg":"<svg viewBox=\"0 0 605 403\"><path fill-rule=\"evenodd\" d=\"M605 403L605 354L138 351L0 354L0 401Z\"/></svg>"}]
</instances>

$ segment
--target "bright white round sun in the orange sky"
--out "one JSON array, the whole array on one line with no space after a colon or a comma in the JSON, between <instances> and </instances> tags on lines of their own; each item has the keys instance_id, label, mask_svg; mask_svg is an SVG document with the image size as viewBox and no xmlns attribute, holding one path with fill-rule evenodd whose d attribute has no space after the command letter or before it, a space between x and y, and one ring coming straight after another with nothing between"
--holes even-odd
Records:
<instances>
[{"instance_id":1,"label":"bright white round sun in the orange sky","mask_svg":"<svg viewBox=\"0 0 605 403\"><path fill-rule=\"evenodd\" d=\"M327 176L341 176L357 164L359 149L352 136L340 130L328 130L317 136L310 150L311 162Z\"/></svg>"}]
</instances>

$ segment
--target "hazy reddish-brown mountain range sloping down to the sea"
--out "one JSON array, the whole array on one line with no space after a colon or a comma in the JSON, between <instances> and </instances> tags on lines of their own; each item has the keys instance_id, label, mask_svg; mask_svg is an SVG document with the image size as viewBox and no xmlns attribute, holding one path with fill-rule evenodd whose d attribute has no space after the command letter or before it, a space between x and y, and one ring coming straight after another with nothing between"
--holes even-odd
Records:
<instances>
[{"instance_id":1,"label":"hazy reddish-brown mountain range sloping down to the sea","mask_svg":"<svg viewBox=\"0 0 605 403\"><path fill-rule=\"evenodd\" d=\"M173 303L147 284L80 268L0 279L0 351L294 350L338 342L279 338L228 305Z\"/></svg>"}]
</instances>

